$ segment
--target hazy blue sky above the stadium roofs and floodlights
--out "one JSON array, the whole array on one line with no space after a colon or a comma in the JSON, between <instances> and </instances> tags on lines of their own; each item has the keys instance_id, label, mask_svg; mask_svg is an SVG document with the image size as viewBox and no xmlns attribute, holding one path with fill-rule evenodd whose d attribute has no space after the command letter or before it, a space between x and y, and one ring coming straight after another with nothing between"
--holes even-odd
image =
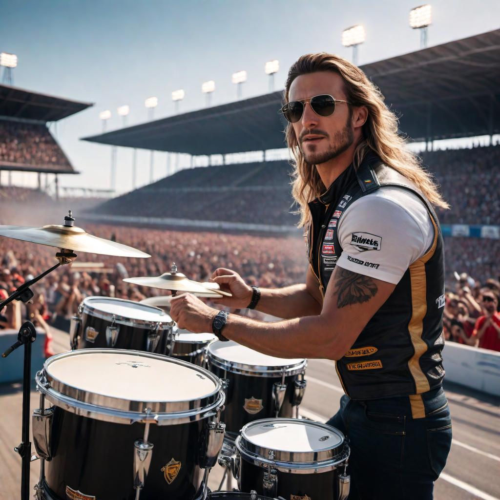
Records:
<instances>
[{"instance_id":1,"label":"hazy blue sky above the stadium roofs and floodlights","mask_svg":"<svg viewBox=\"0 0 500 500\"><path fill-rule=\"evenodd\" d=\"M170 92L185 90L180 111L204 106L201 83L215 80L213 104L236 98L231 74L248 72L243 97L268 90L263 67L278 59L275 88L301 54L331 51L345 57L343 28L363 24L359 64L411 52L419 33L408 26L418 1L332 0L3 0L0 50L18 56L14 85L95 105L57 125L57 138L80 175L61 185L109 187L108 146L79 140L98 133L99 111L119 128L116 108L130 106L128 124L147 120L144 99L155 95L155 118L174 113ZM471 7L473 6L473 8ZM435 45L499 27L500 2L433 1L428 43ZM383 91L383 89L382 89ZM155 153L155 178L165 175L165 153ZM117 190L131 187L131 151L118 149ZM15 179L33 182L29 174ZM149 152L139 151L138 183L149 180Z\"/></svg>"}]
</instances>

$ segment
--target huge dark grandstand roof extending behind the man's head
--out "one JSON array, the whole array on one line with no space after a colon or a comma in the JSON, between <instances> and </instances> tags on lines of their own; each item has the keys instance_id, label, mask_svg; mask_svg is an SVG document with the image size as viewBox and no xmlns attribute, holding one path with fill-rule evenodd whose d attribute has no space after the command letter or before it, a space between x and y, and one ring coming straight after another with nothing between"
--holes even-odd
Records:
<instances>
[{"instance_id":1,"label":"huge dark grandstand roof extending behind the man's head","mask_svg":"<svg viewBox=\"0 0 500 500\"><path fill-rule=\"evenodd\" d=\"M500 132L500 29L360 66L414 140ZM84 140L229 153L284 147L282 91L169 116Z\"/></svg>"}]
</instances>

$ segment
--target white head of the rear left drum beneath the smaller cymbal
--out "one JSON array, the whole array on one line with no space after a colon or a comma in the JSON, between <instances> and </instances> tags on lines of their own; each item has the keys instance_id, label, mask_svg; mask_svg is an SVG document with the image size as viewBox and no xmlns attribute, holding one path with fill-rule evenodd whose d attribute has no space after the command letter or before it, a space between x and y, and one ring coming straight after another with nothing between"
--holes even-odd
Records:
<instances>
[{"instance_id":1,"label":"white head of the rear left drum beneath the smaller cymbal","mask_svg":"<svg viewBox=\"0 0 500 500\"><path fill-rule=\"evenodd\" d=\"M161 309L151 305L113 297L86 297L83 303L105 314L151 322L170 322L172 318Z\"/></svg>"}]
</instances>

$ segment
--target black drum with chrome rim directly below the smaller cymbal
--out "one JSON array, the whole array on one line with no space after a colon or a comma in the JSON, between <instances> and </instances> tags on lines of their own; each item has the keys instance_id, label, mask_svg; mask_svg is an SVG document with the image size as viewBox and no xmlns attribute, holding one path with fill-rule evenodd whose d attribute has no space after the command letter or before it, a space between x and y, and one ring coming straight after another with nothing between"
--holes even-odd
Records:
<instances>
[{"instance_id":1,"label":"black drum with chrome rim directly below the smaller cymbal","mask_svg":"<svg viewBox=\"0 0 500 500\"><path fill-rule=\"evenodd\" d=\"M164 354L172 318L158 307L113 297L86 297L71 318L72 349L114 347Z\"/></svg>"}]
</instances>

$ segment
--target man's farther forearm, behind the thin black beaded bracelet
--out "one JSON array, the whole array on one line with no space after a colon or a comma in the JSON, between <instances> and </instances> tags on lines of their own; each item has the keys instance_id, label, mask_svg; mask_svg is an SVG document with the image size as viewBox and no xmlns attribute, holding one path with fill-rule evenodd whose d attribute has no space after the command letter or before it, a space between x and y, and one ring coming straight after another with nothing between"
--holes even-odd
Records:
<instances>
[{"instance_id":1,"label":"man's farther forearm, behind the thin black beaded bracelet","mask_svg":"<svg viewBox=\"0 0 500 500\"><path fill-rule=\"evenodd\" d=\"M305 283L284 288L261 288L255 309L284 319L312 316L321 312L321 305L307 291Z\"/></svg>"}]
</instances>

